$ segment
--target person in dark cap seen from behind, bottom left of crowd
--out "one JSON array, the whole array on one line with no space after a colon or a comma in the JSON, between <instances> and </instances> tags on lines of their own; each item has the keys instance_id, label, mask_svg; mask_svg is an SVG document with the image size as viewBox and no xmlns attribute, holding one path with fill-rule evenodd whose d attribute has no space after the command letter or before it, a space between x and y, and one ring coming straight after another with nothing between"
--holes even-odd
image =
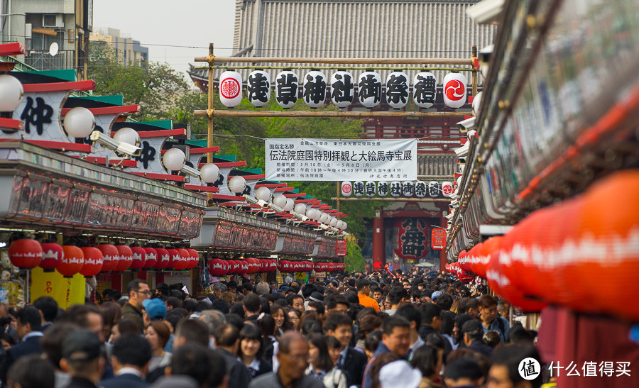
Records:
<instances>
[{"instance_id":1,"label":"person in dark cap seen from behind, bottom left of crowd","mask_svg":"<svg viewBox=\"0 0 639 388\"><path fill-rule=\"evenodd\" d=\"M97 388L104 372L102 343L96 333L80 329L69 333L62 343L60 367L71 377L67 388Z\"/></svg>"}]
</instances>

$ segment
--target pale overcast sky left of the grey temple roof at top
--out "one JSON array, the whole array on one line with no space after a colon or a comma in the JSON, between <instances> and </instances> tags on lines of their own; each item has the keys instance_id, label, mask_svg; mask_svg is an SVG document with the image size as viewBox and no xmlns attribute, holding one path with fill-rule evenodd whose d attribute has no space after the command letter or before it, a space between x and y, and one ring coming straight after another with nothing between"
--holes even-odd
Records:
<instances>
[{"instance_id":1,"label":"pale overcast sky left of the grey temple roof at top","mask_svg":"<svg viewBox=\"0 0 639 388\"><path fill-rule=\"evenodd\" d=\"M117 28L148 47L150 60L182 72L194 57L208 55L209 43L216 55L231 55L234 23L235 0L93 1L94 30Z\"/></svg>"}]
</instances>

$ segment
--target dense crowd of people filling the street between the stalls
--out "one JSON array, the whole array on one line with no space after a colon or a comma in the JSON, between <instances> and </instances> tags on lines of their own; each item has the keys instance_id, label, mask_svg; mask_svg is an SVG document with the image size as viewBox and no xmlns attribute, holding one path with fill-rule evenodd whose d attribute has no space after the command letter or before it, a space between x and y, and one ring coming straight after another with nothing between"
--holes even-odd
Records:
<instances>
[{"instance_id":1,"label":"dense crowd of people filling the street between the stalls","mask_svg":"<svg viewBox=\"0 0 639 388\"><path fill-rule=\"evenodd\" d=\"M536 333L508 304L440 272L285 284L217 282L190 296L160 283L107 289L98 305L43 296L0 305L9 387L540 387Z\"/></svg>"}]
</instances>

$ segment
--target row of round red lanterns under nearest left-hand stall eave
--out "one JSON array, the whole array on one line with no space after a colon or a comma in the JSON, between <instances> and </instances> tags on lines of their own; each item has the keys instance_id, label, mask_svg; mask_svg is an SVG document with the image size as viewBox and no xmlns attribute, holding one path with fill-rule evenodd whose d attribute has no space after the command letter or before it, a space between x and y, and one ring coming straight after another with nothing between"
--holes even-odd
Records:
<instances>
[{"instance_id":1,"label":"row of round red lanterns under nearest left-hand stall eave","mask_svg":"<svg viewBox=\"0 0 639 388\"><path fill-rule=\"evenodd\" d=\"M191 248L142 248L127 245L102 244L96 247L60 246L38 243L23 238L9 245L9 260L20 268L42 267L57 270L65 277L80 273L86 277L99 272L125 270L190 270L200 261L200 254Z\"/></svg>"}]
</instances>

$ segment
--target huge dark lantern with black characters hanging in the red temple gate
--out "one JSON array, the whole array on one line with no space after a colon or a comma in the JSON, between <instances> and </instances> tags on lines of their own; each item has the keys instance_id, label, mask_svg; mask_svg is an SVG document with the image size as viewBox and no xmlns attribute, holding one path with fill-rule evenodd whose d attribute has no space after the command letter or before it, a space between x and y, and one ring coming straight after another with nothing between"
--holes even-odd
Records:
<instances>
[{"instance_id":1,"label":"huge dark lantern with black characters hanging in the red temple gate","mask_svg":"<svg viewBox=\"0 0 639 388\"><path fill-rule=\"evenodd\" d=\"M395 255L403 259L420 260L428 254L428 224L422 218L400 218L395 224L397 240Z\"/></svg>"}]
</instances>

